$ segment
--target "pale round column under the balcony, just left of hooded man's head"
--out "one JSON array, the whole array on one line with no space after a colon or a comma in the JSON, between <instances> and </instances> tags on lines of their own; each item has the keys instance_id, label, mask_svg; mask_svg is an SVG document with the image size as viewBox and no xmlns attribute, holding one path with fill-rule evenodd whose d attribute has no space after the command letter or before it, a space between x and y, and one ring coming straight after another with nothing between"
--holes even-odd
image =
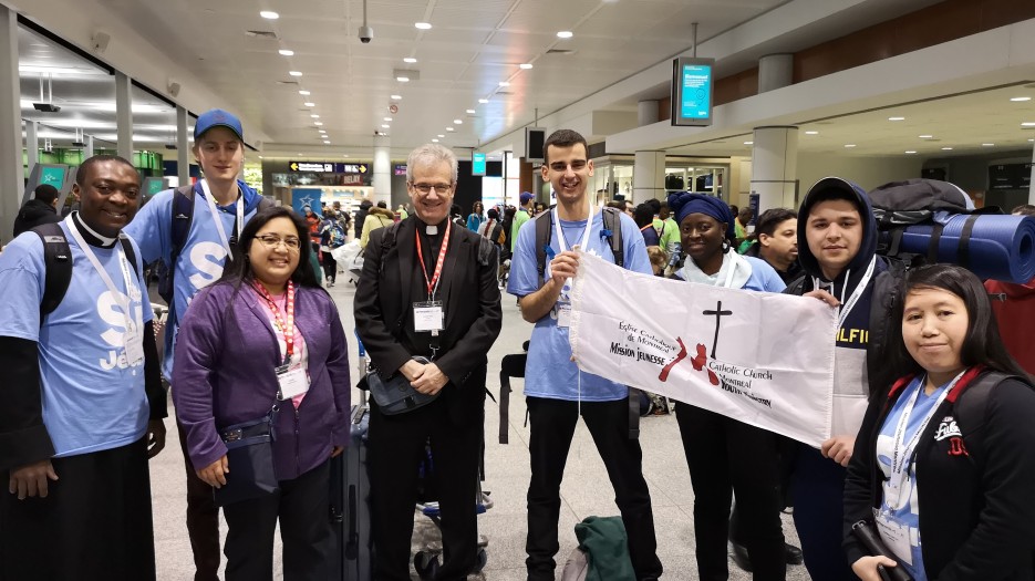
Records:
<instances>
[{"instance_id":1,"label":"pale round column under the balcony, just left of hooded man's head","mask_svg":"<svg viewBox=\"0 0 1035 581\"><path fill-rule=\"evenodd\" d=\"M795 208L798 172L798 128L755 127L752 147L752 194L758 194L758 214L769 208Z\"/></svg>"}]
</instances>

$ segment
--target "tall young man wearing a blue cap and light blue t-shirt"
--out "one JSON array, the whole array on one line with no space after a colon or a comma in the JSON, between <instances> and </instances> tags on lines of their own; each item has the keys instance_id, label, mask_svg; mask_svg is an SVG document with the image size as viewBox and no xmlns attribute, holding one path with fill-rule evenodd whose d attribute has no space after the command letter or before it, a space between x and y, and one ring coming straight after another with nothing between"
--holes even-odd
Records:
<instances>
[{"instance_id":1,"label":"tall young man wearing a blue cap and light blue t-shirt","mask_svg":"<svg viewBox=\"0 0 1035 581\"><path fill-rule=\"evenodd\" d=\"M161 261L168 269L169 292L163 294L169 301L169 314L162 365L167 381L173 375L173 345L187 304L222 273L245 222L271 205L237 178L245 163L245 132L234 114L218 108L203 113L194 127L193 151L205 178L156 195L125 229L139 245L145 263ZM183 426L179 429L183 445ZM213 502L211 487L197 477L189 459L186 467L187 531L197 568L195 581L218 580L219 509Z\"/></svg>"}]
</instances>

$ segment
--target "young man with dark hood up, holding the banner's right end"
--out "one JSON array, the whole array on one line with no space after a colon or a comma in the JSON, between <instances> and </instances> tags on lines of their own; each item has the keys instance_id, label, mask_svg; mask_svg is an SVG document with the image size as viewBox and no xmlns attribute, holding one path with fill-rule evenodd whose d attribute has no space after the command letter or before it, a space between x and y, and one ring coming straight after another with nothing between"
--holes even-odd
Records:
<instances>
[{"instance_id":1,"label":"young man with dark hood up, holding the banner's right end","mask_svg":"<svg viewBox=\"0 0 1035 581\"><path fill-rule=\"evenodd\" d=\"M793 458L794 520L813 579L856 579L840 549L845 467L866 414L870 309L873 287L888 262L877 256L877 220L859 186L837 177L809 189L798 216L798 261L805 277L789 294L815 297L838 308L835 338L834 423L820 449L799 445Z\"/></svg>"}]
</instances>

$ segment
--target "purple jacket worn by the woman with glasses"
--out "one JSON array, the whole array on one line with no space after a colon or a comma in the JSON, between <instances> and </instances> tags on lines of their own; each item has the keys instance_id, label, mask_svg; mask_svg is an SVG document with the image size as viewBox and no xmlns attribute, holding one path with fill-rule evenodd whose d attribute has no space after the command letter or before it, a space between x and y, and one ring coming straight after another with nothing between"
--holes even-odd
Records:
<instances>
[{"instance_id":1,"label":"purple jacket worn by the woman with glasses","mask_svg":"<svg viewBox=\"0 0 1035 581\"><path fill-rule=\"evenodd\" d=\"M218 428L261 417L277 396L280 349L258 301L247 284L236 295L229 284L213 284L180 322L172 392L195 468L227 453ZM311 384L298 408L279 402L273 466L280 480L315 468L332 446L349 442L349 351L338 308L323 289L298 288L294 324L309 349Z\"/></svg>"}]
</instances>

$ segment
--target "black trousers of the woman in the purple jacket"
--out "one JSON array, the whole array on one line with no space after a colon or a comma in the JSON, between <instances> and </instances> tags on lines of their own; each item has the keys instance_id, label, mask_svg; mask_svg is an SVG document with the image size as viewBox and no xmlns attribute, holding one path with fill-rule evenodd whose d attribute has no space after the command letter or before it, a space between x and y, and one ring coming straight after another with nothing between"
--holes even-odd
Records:
<instances>
[{"instance_id":1,"label":"black trousers of the woman in the purple jacket","mask_svg":"<svg viewBox=\"0 0 1035 581\"><path fill-rule=\"evenodd\" d=\"M277 494L222 507L228 529L226 581L272 581L278 520L284 581L330 578L330 464L281 480Z\"/></svg>"}]
</instances>

